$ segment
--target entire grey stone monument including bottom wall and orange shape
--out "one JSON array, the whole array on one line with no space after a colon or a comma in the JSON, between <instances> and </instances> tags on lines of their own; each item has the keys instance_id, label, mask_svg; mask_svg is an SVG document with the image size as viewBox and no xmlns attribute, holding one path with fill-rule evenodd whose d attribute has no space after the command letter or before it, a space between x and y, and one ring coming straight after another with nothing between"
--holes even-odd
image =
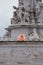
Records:
<instances>
[{"instance_id":1,"label":"entire grey stone monument including bottom wall and orange shape","mask_svg":"<svg viewBox=\"0 0 43 65\"><path fill-rule=\"evenodd\" d=\"M0 65L43 65L42 1L19 0L19 6L13 8L5 41L0 41Z\"/></svg>"}]
</instances>

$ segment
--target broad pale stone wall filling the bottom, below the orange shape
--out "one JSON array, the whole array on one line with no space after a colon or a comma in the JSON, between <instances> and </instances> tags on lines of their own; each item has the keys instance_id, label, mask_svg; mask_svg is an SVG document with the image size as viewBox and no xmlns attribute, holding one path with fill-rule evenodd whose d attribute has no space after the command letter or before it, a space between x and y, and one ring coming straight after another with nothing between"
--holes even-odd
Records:
<instances>
[{"instance_id":1,"label":"broad pale stone wall filling the bottom, below the orange shape","mask_svg":"<svg viewBox=\"0 0 43 65\"><path fill-rule=\"evenodd\" d=\"M1 41L0 65L43 65L43 42Z\"/></svg>"}]
</instances>

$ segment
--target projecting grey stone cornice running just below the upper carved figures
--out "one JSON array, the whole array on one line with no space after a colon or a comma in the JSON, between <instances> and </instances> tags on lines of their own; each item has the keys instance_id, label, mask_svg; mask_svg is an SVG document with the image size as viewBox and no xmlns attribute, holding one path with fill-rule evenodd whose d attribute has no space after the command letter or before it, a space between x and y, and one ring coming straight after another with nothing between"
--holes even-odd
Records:
<instances>
[{"instance_id":1,"label":"projecting grey stone cornice running just below the upper carved figures","mask_svg":"<svg viewBox=\"0 0 43 65\"><path fill-rule=\"evenodd\" d=\"M43 23L42 24L25 24L25 25L18 25L18 24L14 24L14 25L10 25L8 28L5 28L6 30L12 30L12 29L18 29L18 28L28 28L28 29L32 29L32 28L43 28Z\"/></svg>"}]
</instances>

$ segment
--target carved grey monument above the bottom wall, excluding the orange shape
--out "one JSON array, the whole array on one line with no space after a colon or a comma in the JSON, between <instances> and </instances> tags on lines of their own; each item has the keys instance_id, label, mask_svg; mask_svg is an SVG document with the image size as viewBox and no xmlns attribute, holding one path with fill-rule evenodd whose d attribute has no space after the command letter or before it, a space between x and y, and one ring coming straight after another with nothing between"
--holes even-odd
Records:
<instances>
[{"instance_id":1,"label":"carved grey monument above the bottom wall, excluding the orange shape","mask_svg":"<svg viewBox=\"0 0 43 65\"><path fill-rule=\"evenodd\" d=\"M18 41L24 34L25 41L43 40L43 3L41 0L19 0L19 6L13 6L11 25L5 28L6 40Z\"/></svg>"}]
</instances>

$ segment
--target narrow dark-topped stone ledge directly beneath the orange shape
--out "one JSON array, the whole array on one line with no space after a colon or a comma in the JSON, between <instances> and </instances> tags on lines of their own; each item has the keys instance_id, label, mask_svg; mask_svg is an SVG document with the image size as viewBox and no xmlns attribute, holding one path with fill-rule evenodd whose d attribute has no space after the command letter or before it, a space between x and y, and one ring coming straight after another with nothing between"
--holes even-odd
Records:
<instances>
[{"instance_id":1,"label":"narrow dark-topped stone ledge directly beneath the orange shape","mask_svg":"<svg viewBox=\"0 0 43 65\"><path fill-rule=\"evenodd\" d=\"M43 41L0 41L0 45L43 45Z\"/></svg>"}]
</instances>

